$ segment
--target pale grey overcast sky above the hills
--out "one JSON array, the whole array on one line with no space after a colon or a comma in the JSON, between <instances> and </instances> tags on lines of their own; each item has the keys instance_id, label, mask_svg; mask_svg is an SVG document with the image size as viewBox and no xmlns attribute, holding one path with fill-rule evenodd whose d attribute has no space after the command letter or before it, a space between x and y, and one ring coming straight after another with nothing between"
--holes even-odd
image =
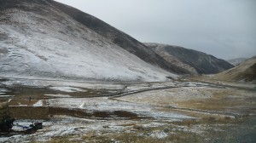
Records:
<instances>
[{"instance_id":1,"label":"pale grey overcast sky above the hills","mask_svg":"<svg viewBox=\"0 0 256 143\"><path fill-rule=\"evenodd\" d=\"M196 49L227 60L256 55L256 0L56 0L140 42Z\"/></svg>"}]
</instances>

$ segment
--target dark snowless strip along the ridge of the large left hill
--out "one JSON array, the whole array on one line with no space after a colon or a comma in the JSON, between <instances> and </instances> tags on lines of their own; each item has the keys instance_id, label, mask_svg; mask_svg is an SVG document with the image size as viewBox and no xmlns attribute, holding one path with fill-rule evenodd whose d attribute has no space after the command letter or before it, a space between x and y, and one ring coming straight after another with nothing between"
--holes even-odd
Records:
<instances>
[{"instance_id":1,"label":"dark snowless strip along the ridge of the large left hill","mask_svg":"<svg viewBox=\"0 0 256 143\"><path fill-rule=\"evenodd\" d=\"M138 42L135 38L130 37L122 31L109 26L102 20L97 19L90 14L85 14L79 9L73 9L65 4L48 0L55 8L60 9L61 12L68 14L73 20L79 21L84 26L87 26L92 31L96 31L102 37L107 38L112 43L119 45L122 49L129 51L131 54L137 55L140 59L159 66L166 71L175 72L178 74L188 73L188 71L180 68L179 66L170 65L166 60L155 54L152 49L148 49L143 43Z\"/></svg>"}]
</instances>

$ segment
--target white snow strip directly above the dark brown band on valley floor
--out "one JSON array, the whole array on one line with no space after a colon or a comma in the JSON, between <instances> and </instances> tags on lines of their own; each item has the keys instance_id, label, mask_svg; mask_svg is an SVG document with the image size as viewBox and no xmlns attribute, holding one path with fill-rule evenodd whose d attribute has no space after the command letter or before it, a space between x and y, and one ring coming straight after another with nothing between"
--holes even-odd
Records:
<instances>
[{"instance_id":1,"label":"white snow strip directly above the dark brown band on valley floor","mask_svg":"<svg viewBox=\"0 0 256 143\"><path fill-rule=\"evenodd\" d=\"M107 97L51 99L49 100L49 106L84 109L85 112L125 111L136 113L138 116L163 118L168 120L193 118L177 112L163 112L160 110L160 107L157 106L129 103L119 100L108 100Z\"/></svg>"}]
</instances>

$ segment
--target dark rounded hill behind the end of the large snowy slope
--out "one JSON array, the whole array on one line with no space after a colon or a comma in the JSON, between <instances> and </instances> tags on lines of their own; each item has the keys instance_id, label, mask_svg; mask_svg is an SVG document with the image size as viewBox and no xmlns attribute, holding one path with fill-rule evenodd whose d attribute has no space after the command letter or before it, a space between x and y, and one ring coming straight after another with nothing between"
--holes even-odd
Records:
<instances>
[{"instance_id":1,"label":"dark rounded hill behind the end of the large snowy slope","mask_svg":"<svg viewBox=\"0 0 256 143\"><path fill-rule=\"evenodd\" d=\"M193 49L165 45L160 43L144 43L149 49L153 49L155 54L160 55L169 62L170 65L178 66L188 71L190 74L212 74L223 72L234 66L225 60L205 54Z\"/></svg>"}]
</instances>

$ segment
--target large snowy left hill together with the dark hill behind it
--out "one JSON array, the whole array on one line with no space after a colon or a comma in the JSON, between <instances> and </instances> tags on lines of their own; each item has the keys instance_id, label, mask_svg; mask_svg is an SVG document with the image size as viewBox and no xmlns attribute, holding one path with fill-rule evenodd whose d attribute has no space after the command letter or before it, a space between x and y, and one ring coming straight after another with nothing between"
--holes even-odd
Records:
<instances>
[{"instance_id":1,"label":"large snowy left hill together with the dark hill behind it","mask_svg":"<svg viewBox=\"0 0 256 143\"><path fill-rule=\"evenodd\" d=\"M0 1L0 77L157 82L233 67L191 49L147 46L53 0Z\"/></svg>"}]
</instances>

